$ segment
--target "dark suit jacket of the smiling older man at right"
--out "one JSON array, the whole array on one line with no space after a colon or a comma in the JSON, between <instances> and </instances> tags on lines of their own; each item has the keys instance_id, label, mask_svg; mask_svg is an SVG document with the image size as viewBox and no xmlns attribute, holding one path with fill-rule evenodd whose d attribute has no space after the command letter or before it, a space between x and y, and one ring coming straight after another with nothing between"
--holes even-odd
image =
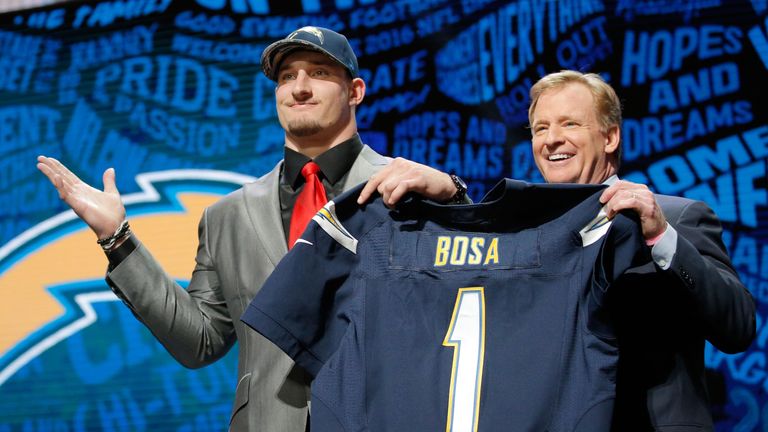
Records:
<instances>
[{"instance_id":1,"label":"dark suit jacket of the smiling older man at right","mask_svg":"<svg viewBox=\"0 0 768 432\"><path fill-rule=\"evenodd\" d=\"M755 336L755 302L736 275L720 222L704 203L657 195L677 230L667 270L629 270L611 288L620 352L615 431L713 430L704 341L726 353Z\"/></svg>"}]
</instances>

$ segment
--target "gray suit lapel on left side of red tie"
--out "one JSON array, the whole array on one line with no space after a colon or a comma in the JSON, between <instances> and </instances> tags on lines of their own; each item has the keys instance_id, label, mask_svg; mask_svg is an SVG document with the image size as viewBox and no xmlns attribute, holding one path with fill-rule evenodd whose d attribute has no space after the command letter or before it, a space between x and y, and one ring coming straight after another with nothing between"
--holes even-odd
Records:
<instances>
[{"instance_id":1,"label":"gray suit lapel on left side of red tie","mask_svg":"<svg viewBox=\"0 0 768 432\"><path fill-rule=\"evenodd\" d=\"M268 174L243 187L245 208L251 219L251 226L256 231L256 239L275 266L288 253L278 193L282 166L283 163L280 162Z\"/></svg>"}]
</instances>

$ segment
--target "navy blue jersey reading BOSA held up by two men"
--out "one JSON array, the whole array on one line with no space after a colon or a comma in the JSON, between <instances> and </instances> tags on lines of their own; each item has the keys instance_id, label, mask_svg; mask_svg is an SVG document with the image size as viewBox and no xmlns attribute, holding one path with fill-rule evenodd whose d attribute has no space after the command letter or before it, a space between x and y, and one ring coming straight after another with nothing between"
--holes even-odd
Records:
<instances>
[{"instance_id":1,"label":"navy blue jersey reading BOSA held up by two men","mask_svg":"<svg viewBox=\"0 0 768 432\"><path fill-rule=\"evenodd\" d=\"M330 202L243 321L313 377L313 431L608 430L601 306L642 256L602 186L506 180L477 205Z\"/></svg>"}]
</instances>

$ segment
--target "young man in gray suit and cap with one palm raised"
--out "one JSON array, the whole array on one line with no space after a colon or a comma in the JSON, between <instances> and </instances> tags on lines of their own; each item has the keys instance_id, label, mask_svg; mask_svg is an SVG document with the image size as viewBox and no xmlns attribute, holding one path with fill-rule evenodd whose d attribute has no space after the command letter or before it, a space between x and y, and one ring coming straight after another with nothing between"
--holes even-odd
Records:
<instances>
[{"instance_id":1,"label":"young man in gray suit and cap with one palm raised","mask_svg":"<svg viewBox=\"0 0 768 432\"><path fill-rule=\"evenodd\" d=\"M319 166L319 189L332 199L368 179L388 159L363 145L357 134L355 109L365 96L365 83L344 36L304 27L267 47L261 63L277 83L285 158L272 172L205 210L187 290L126 228L113 169L104 173L102 192L54 159L41 156L38 168L100 239L110 263L109 285L180 363L205 366L239 341L230 430L299 432L307 427L308 413L303 372L272 343L247 330L240 315L286 254L289 232L303 230L291 220L306 187L305 164Z\"/></svg>"}]
</instances>

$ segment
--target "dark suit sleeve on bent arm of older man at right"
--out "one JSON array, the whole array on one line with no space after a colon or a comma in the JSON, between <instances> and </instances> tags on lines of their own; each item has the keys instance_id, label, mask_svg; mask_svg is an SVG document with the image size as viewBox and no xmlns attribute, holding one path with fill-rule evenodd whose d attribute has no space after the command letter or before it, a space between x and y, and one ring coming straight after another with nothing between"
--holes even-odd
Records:
<instances>
[{"instance_id":1,"label":"dark suit sleeve on bent arm of older man at right","mask_svg":"<svg viewBox=\"0 0 768 432\"><path fill-rule=\"evenodd\" d=\"M755 337L755 301L731 264L717 216L691 201L669 222L678 239L666 273L690 294L704 338L725 353L746 350Z\"/></svg>"}]
</instances>

